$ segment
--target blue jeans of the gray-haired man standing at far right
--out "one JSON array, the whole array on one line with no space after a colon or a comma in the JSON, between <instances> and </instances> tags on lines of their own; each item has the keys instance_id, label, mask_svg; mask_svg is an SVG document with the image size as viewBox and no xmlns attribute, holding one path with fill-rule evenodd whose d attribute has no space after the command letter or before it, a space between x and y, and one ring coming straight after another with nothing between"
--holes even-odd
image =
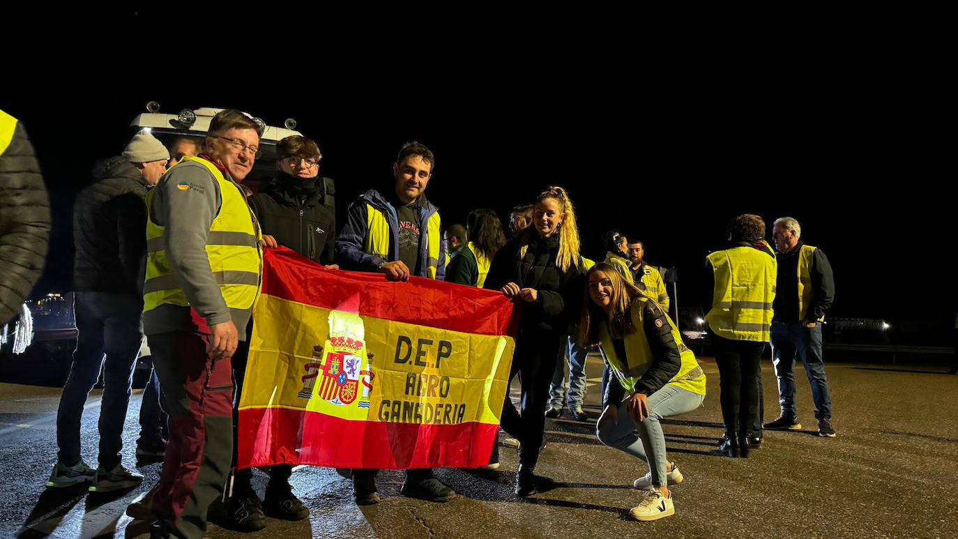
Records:
<instances>
[{"instance_id":1,"label":"blue jeans of the gray-haired man standing at far right","mask_svg":"<svg viewBox=\"0 0 958 539\"><path fill-rule=\"evenodd\" d=\"M779 404L784 417L795 418L795 359L805 364L815 401L815 418L832 418L832 396L822 360L822 325L812 328L801 322L772 323L772 361L779 382Z\"/></svg>"}]
</instances>

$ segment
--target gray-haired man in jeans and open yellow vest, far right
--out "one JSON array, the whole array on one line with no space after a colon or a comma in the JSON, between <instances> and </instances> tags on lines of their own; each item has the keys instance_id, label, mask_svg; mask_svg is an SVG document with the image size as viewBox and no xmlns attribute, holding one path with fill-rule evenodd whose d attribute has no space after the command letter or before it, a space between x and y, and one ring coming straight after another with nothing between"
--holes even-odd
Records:
<instances>
[{"instance_id":1,"label":"gray-haired man in jeans and open yellow vest, far right","mask_svg":"<svg viewBox=\"0 0 958 539\"><path fill-rule=\"evenodd\" d=\"M792 217L775 220L778 293L772 317L771 345L782 415L766 429L801 430L795 411L795 359L805 364L815 401L818 435L834 438L832 396L822 360L822 322L834 299L832 266L821 249L802 242L802 227Z\"/></svg>"}]
</instances>

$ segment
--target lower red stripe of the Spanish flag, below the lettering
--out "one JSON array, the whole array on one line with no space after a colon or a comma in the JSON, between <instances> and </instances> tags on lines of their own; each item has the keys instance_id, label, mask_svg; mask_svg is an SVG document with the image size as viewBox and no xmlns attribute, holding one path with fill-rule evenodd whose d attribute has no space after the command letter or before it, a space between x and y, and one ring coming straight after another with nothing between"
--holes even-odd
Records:
<instances>
[{"instance_id":1,"label":"lower red stripe of the Spanish flag, below the lettering","mask_svg":"<svg viewBox=\"0 0 958 539\"><path fill-rule=\"evenodd\" d=\"M489 463L498 431L490 423L349 421L287 408L248 408L239 411L238 467L475 468Z\"/></svg>"}]
</instances>

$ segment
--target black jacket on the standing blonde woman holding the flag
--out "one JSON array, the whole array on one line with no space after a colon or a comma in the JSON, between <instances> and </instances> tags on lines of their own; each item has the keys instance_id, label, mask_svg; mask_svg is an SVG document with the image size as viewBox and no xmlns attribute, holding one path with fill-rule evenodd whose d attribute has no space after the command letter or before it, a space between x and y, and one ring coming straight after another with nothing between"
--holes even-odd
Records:
<instances>
[{"instance_id":1,"label":"black jacket on the standing blonde woman holding the flag","mask_svg":"<svg viewBox=\"0 0 958 539\"><path fill-rule=\"evenodd\" d=\"M582 260L562 271L556 265L559 256L559 237L534 235L521 254L522 235L513 237L492 258L484 288L499 290L507 282L519 288L535 288L536 302L518 301L522 305L519 327L536 331L568 331L569 321L579 316L584 294Z\"/></svg>"}]
</instances>

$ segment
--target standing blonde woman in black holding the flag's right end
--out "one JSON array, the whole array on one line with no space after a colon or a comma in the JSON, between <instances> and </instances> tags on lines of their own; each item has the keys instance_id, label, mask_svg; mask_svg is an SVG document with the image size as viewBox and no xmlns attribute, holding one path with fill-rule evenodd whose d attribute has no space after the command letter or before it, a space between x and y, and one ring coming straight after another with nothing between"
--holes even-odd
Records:
<instances>
[{"instance_id":1,"label":"standing blonde woman in black holding the flag's right end","mask_svg":"<svg viewBox=\"0 0 958 539\"><path fill-rule=\"evenodd\" d=\"M496 252L485 288L522 305L510 375L521 374L522 412L507 397L502 428L520 442L515 494L529 496L536 492L533 470L543 441L549 384L559 349L567 345L569 318L582 301L579 229L564 189L552 187L536 197L532 224ZM491 463L498 462L496 450Z\"/></svg>"}]
</instances>

